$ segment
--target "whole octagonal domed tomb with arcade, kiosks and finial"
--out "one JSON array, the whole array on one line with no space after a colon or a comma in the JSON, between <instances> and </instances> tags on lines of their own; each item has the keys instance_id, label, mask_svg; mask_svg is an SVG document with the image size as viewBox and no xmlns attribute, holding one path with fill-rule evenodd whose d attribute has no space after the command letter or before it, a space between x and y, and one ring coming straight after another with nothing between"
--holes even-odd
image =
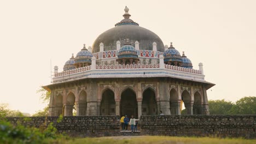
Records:
<instances>
[{"instance_id":1,"label":"whole octagonal domed tomb with arcade, kiosks and finial","mask_svg":"<svg viewBox=\"0 0 256 144\"><path fill-rule=\"evenodd\" d=\"M53 82L49 116L89 115L208 115L207 89L202 63L193 69L188 57L130 19L100 34L92 47L68 59ZM79 50L79 47L78 47Z\"/></svg>"}]
</instances>

